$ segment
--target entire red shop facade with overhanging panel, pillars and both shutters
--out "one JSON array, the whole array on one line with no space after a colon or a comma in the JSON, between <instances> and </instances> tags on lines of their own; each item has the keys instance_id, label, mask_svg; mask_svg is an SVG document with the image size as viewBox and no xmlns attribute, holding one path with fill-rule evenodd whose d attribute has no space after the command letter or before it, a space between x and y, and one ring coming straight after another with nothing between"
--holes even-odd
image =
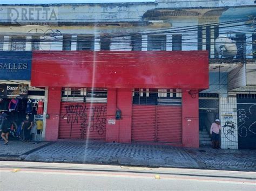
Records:
<instances>
[{"instance_id":1,"label":"entire red shop facade with overhanging panel, pillars and both shutters","mask_svg":"<svg viewBox=\"0 0 256 191\"><path fill-rule=\"evenodd\" d=\"M208 88L208 53L35 51L31 86L49 87L46 140L199 147L198 91ZM63 102L65 88L104 88L106 103ZM179 89L180 105L134 104L136 88Z\"/></svg>"}]
</instances>

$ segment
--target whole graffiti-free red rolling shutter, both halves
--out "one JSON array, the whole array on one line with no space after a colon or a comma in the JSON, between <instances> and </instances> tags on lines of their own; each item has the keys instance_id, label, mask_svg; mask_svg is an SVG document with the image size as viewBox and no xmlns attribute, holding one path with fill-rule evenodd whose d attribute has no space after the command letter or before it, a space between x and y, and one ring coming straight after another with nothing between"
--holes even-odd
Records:
<instances>
[{"instance_id":1,"label":"whole graffiti-free red rolling shutter, both halves","mask_svg":"<svg viewBox=\"0 0 256 191\"><path fill-rule=\"evenodd\" d=\"M132 105L132 141L181 143L181 107Z\"/></svg>"}]
</instances>

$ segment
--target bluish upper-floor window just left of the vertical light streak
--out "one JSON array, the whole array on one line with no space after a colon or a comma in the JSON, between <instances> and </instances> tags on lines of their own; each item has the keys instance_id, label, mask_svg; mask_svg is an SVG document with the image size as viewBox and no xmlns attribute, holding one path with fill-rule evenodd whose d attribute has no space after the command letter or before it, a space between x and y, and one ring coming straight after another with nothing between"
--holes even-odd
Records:
<instances>
[{"instance_id":1,"label":"bluish upper-floor window just left of the vertical light streak","mask_svg":"<svg viewBox=\"0 0 256 191\"><path fill-rule=\"evenodd\" d=\"M86 51L94 50L94 37L93 36L77 36L77 50Z\"/></svg>"}]
</instances>

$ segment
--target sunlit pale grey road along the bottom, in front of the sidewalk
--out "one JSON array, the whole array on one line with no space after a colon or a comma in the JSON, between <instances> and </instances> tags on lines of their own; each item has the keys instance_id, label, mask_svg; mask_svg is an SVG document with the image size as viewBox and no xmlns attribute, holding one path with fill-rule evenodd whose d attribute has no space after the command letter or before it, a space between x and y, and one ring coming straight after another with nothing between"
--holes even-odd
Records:
<instances>
[{"instance_id":1,"label":"sunlit pale grey road along the bottom, in front of the sidewalk","mask_svg":"<svg viewBox=\"0 0 256 191\"><path fill-rule=\"evenodd\" d=\"M0 190L256 190L254 172L238 172L238 176L232 178L227 177L225 171L212 171L211 176L198 169L189 169L186 174L185 169L178 168L172 171L80 165L79 169L79 165L70 164L10 164L1 162Z\"/></svg>"}]
</instances>

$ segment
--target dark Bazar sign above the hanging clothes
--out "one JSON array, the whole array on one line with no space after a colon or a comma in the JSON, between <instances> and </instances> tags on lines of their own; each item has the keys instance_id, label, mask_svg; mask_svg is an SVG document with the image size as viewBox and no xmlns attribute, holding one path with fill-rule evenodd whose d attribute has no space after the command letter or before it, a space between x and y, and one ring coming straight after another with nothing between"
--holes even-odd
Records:
<instances>
[{"instance_id":1,"label":"dark Bazar sign above the hanging clothes","mask_svg":"<svg viewBox=\"0 0 256 191\"><path fill-rule=\"evenodd\" d=\"M28 84L0 84L1 98L28 97Z\"/></svg>"}]
</instances>

